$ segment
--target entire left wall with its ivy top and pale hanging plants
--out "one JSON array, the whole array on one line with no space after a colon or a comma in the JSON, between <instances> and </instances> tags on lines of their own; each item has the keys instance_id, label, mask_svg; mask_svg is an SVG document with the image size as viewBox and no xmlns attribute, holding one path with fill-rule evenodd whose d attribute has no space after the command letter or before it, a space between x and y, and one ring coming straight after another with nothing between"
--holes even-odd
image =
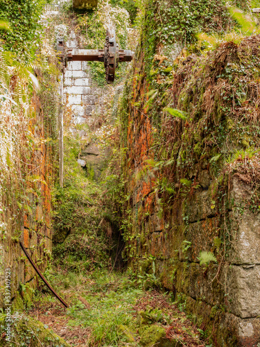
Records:
<instances>
[{"instance_id":1,"label":"entire left wall with its ivy top and pale hanging plants","mask_svg":"<svg viewBox=\"0 0 260 347\"><path fill-rule=\"evenodd\" d=\"M19 241L31 248L40 269L50 258L49 199L57 164L60 70L49 35L37 35L42 6L41 1L2 1L0 6L1 24L6 23L0 33L1 276L10 264L20 269L11 271L11 298L19 281L31 280ZM33 37L35 42L29 44ZM1 277L2 307L4 289Z\"/></svg>"}]
</instances>

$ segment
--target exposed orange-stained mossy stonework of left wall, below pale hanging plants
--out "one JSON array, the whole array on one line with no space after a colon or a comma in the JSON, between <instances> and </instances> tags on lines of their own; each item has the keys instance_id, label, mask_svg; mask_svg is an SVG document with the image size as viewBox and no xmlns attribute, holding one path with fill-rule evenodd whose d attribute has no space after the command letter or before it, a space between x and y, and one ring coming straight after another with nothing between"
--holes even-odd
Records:
<instances>
[{"instance_id":1,"label":"exposed orange-stained mossy stonework of left wall, below pale hanging plants","mask_svg":"<svg viewBox=\"0 0 260 347\"><path fill-rule=\"evenodd\" d=\"M19 167L10 161L9 170L1 171L6 179L1 180L0 307L6 307L11 298L13 310L21 309L20 299L26 303L37 285L35 270L19 242L42 272L51 257L51 188L57 176L59 101L59 71L55 65L51 69L52 75L37 71L41 90L31 96L30 113L20 111L24 128L15 141Z\"/></svg>"}]
</instances>

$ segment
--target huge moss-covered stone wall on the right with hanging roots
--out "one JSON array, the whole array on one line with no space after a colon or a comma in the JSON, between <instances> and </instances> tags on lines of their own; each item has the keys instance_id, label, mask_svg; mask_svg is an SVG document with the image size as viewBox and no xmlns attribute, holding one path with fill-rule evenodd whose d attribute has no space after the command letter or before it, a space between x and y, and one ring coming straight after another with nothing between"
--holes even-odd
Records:
<instances>
[{"instance_id":1,"label":"huge moss-covered stone wall on the right with hanging roots","mask_svg":"<svg viewBox=\"0 0 260 347\"><path fill-rule=\"evenodd\" d=\"M146 9L120 110L125 255L173 291L209 344L257 346L260 37L196 53L195 31L232 25L202 2L219 20L197 20L186 42L168 16L181 3Z\"/></svg>"}]
</instances>

